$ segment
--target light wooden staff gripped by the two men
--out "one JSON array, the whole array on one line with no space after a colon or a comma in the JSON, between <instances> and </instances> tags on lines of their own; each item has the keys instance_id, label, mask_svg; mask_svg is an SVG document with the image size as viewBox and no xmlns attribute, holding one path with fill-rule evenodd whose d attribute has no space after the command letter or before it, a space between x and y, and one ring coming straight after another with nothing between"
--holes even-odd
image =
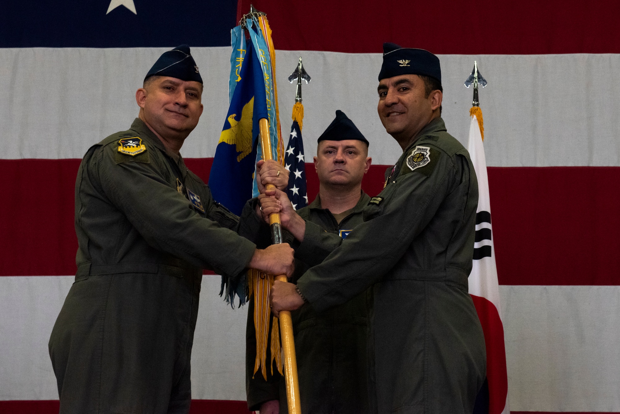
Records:
<instances>
[{"instance_id":1,"label":"light wooden staff gripped by the two men","mask_svg":"<svg viewBox=\"0 0 620 414\"><path fill-rule=\"evenodd\" d=\"M267 118L259 120L260 146L263 150L263 159L273 159ZM273 190L275 185L267 184L267 190ZM280 213L269 214L269 225L272 230L273 244L282 242ZM277 275L275 280L286 282L286 275ZM286 402L290 414L301 414L299 402L299 380L297 377L297 358L295 357L295 342L293 338L293 319L290 311L280 311L280 336L284 350L284 377L286 380Z\"/></svg>"}]
</instances>

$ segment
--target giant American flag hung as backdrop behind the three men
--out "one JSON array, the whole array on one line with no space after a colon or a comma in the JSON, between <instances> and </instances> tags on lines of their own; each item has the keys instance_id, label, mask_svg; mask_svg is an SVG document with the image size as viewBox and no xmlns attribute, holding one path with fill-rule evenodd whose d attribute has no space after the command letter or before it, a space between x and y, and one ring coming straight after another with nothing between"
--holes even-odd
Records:
<instances>
[{"instance_id":1,"label":"giant American flag hung as backdrop behind the three men","mask_svg":"<svg viewBox=\"0 0 620 414\"><path fill-rule=\"evenodd\" d=\"M205 111L182 149L208 180L228 110L229 30L243 1L70 0L4 6L0 27L0 412L53 412L47 341L73 281L79 159L138 113L135 90L188 43ZM306 161L337 109L370 140L366 192L400 148L376 114L381 44L441 59L443 118L463 144L474 60L489 165L513 412L620 412L620 6L615 1L260 1L277 51L282 130L299 56ZM507 2L505 2L507 3ZM317 192L308 165L309 196ZM195 413L244 409L246 309L205 275ZM201 401L198 401L201 400Z\"/></svg>"}]
</instances>

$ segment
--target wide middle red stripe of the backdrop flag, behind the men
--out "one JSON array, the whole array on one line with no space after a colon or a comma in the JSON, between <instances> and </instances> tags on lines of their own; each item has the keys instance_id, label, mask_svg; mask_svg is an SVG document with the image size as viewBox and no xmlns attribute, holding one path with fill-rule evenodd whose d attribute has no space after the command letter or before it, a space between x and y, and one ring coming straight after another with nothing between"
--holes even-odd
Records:
<instances>
[{"instance_id":1,"label":"wide middle red stripe of the backdrop flag, behind the men","mask_svg":"<svg viewBox=\"0 0 620 414\"><path fill-rule=\"evenodd\" d=\"M78 159L0 160L0 276L73 275ZM185 159L208 182L212 159ZM386 165L363 181L369 195ZM618 285L620 167L489 167L500 284ZM306 164L308 196L319 189Z\"/></svg>"}]
</instances>

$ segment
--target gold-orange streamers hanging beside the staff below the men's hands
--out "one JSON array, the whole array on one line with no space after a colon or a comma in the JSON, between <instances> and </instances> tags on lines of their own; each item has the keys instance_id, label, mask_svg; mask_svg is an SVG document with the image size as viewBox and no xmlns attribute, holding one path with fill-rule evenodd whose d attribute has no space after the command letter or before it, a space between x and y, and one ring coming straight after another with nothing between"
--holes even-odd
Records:
<instances>
[{"instance_id":1,"label":"gold-orange streamers hanging beside the staff below the men's hands","mask_svg":"<svg viewBox=\"0 0 620 414\"><path fill-rule=\"evenodd\" d=\"M254 295L254 328L256 332L256 359L254 361L254 374L259 371L267 381L267 343L269 342L269 322L271 306L269 291L273 286L273 275L267 275L262 271L250 269L247 272L250 296ZM275 361L278 372L282 374L282 356L280 347L280 329L278 319L273 317L272 335L270 344L271 373L273 375L273 362ZM252 374L252 378L254 378Z\"/></svg>"}]
</instances>

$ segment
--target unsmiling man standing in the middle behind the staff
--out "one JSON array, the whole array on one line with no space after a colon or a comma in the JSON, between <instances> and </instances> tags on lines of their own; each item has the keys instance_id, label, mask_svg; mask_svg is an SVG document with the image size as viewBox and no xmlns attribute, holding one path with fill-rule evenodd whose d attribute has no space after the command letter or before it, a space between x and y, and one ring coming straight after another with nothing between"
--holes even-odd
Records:
<instances>
[{"instance_id":1,"label":"unsmiling man standing in the middle behind the staff","mask_svg":"<svg viewBox=\"0 0 620 414\"><path fill-rule=\"evenodd\" d=\"M299 216L342 239L363 222L362 209L370 197L361 190L361 180L372 160L368 140L342 111L319 136L314 167L319 177L319 194L297 211ZM259 196L270 205L270 200ZM271 199L273 200L273 199ZM265 217L268 219L268 217ZM292 242L292 240L291 240ZM319 262L295 260L293 283ZM366 337L368 335L368 292L324 312L308 304L291 312L303 414L361 414L368 412L366 384ZM246 330L246 389L250 411L261 414L288 413L285 381L277 371L267 381L254 372L256 340L250 309ZM270 361L267 356L267 361Z\"/></svg>"}]
</instances>

